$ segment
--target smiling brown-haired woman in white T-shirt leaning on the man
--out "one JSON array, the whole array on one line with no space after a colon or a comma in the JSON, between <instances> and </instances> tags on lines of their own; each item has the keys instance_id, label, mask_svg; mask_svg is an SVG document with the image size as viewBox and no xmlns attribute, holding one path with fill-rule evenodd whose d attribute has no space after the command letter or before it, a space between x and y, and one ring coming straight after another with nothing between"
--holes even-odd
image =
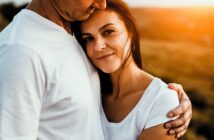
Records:
<instances>
[{"instance_id":1,"label":"smiling brown-haired woman in white T-shirt leaning on the man","mask_svg":"<svg viewBox=\"0 0 214 140\"><path fill-rule=\"evenodd\" d=\"M75 35L99 71L105 138L176 139L163 124L179 104L177 94L142 70L139 33L127 5L109 0L105 10L95 11L79 29Z\"/></svg>"}]
</instances>

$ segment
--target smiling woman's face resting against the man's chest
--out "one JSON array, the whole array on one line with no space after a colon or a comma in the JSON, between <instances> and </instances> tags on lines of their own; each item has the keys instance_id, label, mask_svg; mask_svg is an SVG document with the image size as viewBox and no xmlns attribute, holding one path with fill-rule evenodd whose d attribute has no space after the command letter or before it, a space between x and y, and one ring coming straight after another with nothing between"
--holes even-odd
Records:
<instances>
[{"instance_id":1,"label":"smiling woman's face resting against the man's chest","mask_svg":"<svg viewBox=\"0 0 214 140\"><path fill-rule=\"evenodd\" d=\"M119 70L129 52L131 36L117 13L95 11L82 23L81 32L92 63L105 73Z\"/></svg>"}]
</instances>

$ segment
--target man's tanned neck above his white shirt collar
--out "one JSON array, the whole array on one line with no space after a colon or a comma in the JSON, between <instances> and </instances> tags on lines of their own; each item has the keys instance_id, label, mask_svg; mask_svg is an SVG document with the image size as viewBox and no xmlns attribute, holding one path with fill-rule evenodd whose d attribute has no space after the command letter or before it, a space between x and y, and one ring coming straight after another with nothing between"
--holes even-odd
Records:
<instances>
[{"instance_id":1,"label":"man's tanned neck above his white shirt collar","mask_svg":"<svg viewBox=\"0 0 214 140\"><path fill-rule=\"evenodd\" d=\"M48 6L47 6L48 5ZM32 10L44 18L56 23L63 27L68 33L72 33L70 22L65 21L57 12L53 4L49 0L36 0L32 1L27 9Z\"/></svg>"}]
</instances>

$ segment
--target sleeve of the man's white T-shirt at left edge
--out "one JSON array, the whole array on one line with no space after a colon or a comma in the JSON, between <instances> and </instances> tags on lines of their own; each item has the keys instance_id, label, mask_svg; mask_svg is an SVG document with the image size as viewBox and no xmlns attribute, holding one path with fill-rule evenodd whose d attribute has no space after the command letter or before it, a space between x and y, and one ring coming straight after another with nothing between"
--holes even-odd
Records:
<instances>
[{"instance_id":1,"label":"sleeve of the man's white T-shirt at left edge","mask_svg":"<svg viewBox=\"0 0 214 140\"><path fill-rule=\"evenodd\" d=\"M35 140L45 88L42 64L30 48L1 47L0 139Z\"/></svg>"}]
</instances>

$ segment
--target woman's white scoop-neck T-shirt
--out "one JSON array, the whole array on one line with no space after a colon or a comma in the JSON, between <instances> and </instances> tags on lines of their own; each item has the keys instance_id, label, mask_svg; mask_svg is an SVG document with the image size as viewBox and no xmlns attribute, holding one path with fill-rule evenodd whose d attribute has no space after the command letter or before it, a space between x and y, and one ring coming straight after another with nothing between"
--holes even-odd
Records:
<instances>
[{"instance_id":1,"label":"woman's white scoop-neck T-shirt","mask_svg":"<svg viewBox=\"0 0 214 140\"><path fill-rule=\"evenodd\" d=\"M155 78L129 114L119 123L109 122L102 111L106 140L136 140L143 129L165 123L167 113L178 106L177 93Z\"/></svg>"}]
</instances>

